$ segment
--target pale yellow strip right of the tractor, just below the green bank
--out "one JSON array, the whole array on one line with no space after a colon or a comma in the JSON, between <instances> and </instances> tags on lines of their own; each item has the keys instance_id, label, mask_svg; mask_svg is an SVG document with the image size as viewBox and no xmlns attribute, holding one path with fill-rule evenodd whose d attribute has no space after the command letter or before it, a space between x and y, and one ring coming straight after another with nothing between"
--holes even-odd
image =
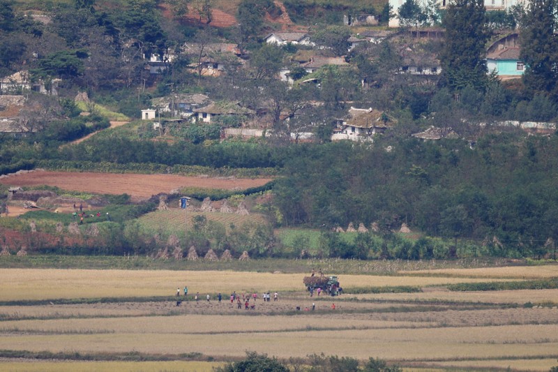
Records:
<instances>
[{"instance_id":1,"label":"pale yellow strip right of the tractor, just below the green bank","mask_svg":"<svg viewBox=\"0 0 558 372\"><path fill-rule=\"evenodd\" d=\"M378 293L370 295L355 295L359 299L381 299L386 301L421 300L421 301L455 301L455 302L483 302L492 304L543 304L552 302L558 304L558 289L555 290L497 290L450 292L447 290L432 290L418 293Z\"/></svg>"}]
</instances>

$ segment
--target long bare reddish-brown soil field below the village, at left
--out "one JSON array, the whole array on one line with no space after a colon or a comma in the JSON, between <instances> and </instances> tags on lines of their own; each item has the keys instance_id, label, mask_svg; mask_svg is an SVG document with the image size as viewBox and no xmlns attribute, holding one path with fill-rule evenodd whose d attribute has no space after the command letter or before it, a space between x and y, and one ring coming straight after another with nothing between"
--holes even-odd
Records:
<instances>
[{"instance_id":1,"label":"long bare reddish-brown soil field below the village, at left","mask_svg":"<svg viewBox=\"0 0 558 372\"><path fill-rule=\"evenodd\" d=\"M114 174L90 172L36 171L12 174L0 179L8 186L57 186L63 190L119 195L126 193L135 198L149 198L158 193L169 193L175 188L223 188L243 190L266 184L271 179L236 179L186 177L174 174Z\"/></svg>"}]
</instances>

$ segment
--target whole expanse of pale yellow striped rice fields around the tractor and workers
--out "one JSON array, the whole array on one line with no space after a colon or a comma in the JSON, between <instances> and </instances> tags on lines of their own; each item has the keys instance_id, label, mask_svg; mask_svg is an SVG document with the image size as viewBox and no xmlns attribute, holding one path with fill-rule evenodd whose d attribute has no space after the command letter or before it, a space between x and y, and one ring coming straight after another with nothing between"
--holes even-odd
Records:
<instances>
[{"instance_id":1,"label":"whole expanse of pale yellow striped rice fields around the tractor and workers","mask_svg":"<svg viewBox=\"0 0 558 372\"><path fill-rule=\"evenodd\" d=\"M339 297L310 297L304 274L2 269L0 362L15 371L211 371L246 351L282 360L323 352L379 357L405 371L548 371L558 365L558 289L453 292L447 285L552 279L556 268L343 274ZM390 292L404 287L418 291ZM248 309L239 308L232 291L272 298L250 297ZM45 353L51 357L43 362ZM130 355L146 361L114 361Z\"/></svg>"}]
</instances>

